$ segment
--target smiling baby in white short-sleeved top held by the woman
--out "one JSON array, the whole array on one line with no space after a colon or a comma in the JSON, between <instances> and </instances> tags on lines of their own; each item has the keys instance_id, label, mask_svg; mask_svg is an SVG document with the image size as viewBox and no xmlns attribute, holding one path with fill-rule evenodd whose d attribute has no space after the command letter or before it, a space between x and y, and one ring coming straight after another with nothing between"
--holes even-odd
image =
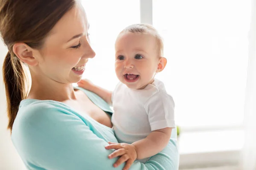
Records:
<instances>
[{"instance_id":1,"label":"smiling baby in white short-sleeved top held by the woman","mask_svg":"<svg viewBox=\"0 0 256 170\"><path fill-rule=\"evenodd\" d=\"M169 142L175 128L174 101L166 93L156 73L163 71L163 40L156 29L146 24L125 28L116 39L115 71L120 82L113 92L81 80L78 85L98 94L113 106L111 121L119 143L109 142L115 149L108 157L120 156L113 165L126 161L125 170L138 159L149 160Z\"/></svg>"}]
</instances>

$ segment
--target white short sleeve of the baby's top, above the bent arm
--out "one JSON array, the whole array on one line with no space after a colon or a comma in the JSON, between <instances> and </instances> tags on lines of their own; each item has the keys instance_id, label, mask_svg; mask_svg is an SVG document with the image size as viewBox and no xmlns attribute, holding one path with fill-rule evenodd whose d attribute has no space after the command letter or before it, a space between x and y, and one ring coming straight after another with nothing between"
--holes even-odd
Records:
<instances>
[{"instance_id":1,"label":"white short sleeve of the baby's top, above the bent arm","mask_svg":"<svg viewBox=\"0 0 256 170\"><path fill-rule=\"evenodd\" d=\"M144 108L152 131L166 127L175 128L174 107L172 96L164 92L158 92L148 99Z\"/></svg>"}]
</instances>

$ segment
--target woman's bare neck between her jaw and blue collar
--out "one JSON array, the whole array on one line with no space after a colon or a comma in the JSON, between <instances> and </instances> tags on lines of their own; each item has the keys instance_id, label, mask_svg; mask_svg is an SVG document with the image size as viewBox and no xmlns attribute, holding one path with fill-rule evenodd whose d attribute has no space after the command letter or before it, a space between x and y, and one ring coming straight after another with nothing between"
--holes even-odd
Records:
<instances>
[{"instance_id":1,"label":"woman's bare neck between her jaw and blue collar","mask_svg":"<svg viewBox=\"0 0 256 170\"><path fill-rule=\"evenodd\" d=\"M55 100L64 102L76 99L72 83L60 83L52 79L32 76L32 85L27 99Z\"/></svg>"}]
</instances>

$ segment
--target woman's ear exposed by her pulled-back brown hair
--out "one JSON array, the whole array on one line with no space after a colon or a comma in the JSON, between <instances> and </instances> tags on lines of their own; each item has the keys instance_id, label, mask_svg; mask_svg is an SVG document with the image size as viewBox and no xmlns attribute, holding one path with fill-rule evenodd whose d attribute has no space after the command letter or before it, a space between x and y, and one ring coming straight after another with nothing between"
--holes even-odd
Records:
<instances>
[{"instance_id":1,"label":"woman's ear exposed by her pulled-back brown hair","mask_svg":"<svg viewBox=\"0 0 256 170\"><path fill-rule=\"evenodd\" d=\"M29 47L26 43L17 42L13 45L12 50L14 54L27 65L38 65L37 59L33 56L34 49Z\"/></svg>"}]
</instances>

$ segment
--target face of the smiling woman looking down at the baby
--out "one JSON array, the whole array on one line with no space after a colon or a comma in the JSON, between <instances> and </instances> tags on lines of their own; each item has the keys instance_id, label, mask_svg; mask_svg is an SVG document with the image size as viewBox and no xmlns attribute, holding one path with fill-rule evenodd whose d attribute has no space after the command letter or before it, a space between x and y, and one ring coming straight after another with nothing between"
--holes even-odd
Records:
<instances>
[{"instance_id":1,"label":"face of the smiling woman looking down at the baby","mask_svg":"<svg viewBox=\"0 0 256 170\"><path fill-rule=\"evenodd\" d=\"M81 5L68 11L49 32L32 70L60 83L79 82L89 58L95 56L88 37L89 24Z\"/></svg>"}]
</instances>

